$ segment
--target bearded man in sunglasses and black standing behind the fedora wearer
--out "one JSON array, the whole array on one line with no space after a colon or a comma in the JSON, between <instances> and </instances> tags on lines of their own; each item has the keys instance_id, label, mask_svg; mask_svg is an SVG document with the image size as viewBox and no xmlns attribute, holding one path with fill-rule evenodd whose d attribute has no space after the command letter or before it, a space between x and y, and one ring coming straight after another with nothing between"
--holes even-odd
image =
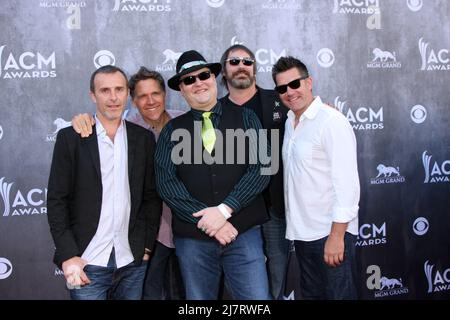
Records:
<instances>
[{"instance_id":1,"label":"bearded man in sunglasses and black standing behind the fedora wearer","mask_svg":"<svg viewBox=\"0 0 450 320\"><path fill-rule=\"evenodd\" d=\"M222 83L229 92L220 99L221 103L225 108L239 107L253 110L263 128L269 131L272 175L263 196L270 221L262 225L262 231L270 292L274 299L278 299L282 297L290 249L290 242L285 239L286 219L281 161L281 145L288 109L280 102L275 90L262 89L256 85L256 59L249 48L240 44L229 47L223 53L220 63Z\"/></svg>"}]
</instances>

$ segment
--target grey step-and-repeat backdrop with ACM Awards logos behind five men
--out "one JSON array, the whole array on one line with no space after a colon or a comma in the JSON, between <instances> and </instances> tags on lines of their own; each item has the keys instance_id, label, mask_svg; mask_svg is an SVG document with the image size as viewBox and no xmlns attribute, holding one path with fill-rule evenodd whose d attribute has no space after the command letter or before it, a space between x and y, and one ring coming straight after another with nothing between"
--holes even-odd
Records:
<instances>
[{"instance_id":1,"label":"grey step-and-repeat backdrop with ACM Awards logos behind five men","mask_svg":"<svg viewBox=\"0 0 450 320\"><path fill-rule=\"evenodd\" d=\"M235 43L265 88L279 57L302 59L355 130L361 297L450 297L449 1L3 0L0 17L0 299L68 298L46 188L58 130L95 108L91 73L168 79L181 52L218 61ZM168 107L187 109L173 91Z\"/></svg>"}]
</instances>

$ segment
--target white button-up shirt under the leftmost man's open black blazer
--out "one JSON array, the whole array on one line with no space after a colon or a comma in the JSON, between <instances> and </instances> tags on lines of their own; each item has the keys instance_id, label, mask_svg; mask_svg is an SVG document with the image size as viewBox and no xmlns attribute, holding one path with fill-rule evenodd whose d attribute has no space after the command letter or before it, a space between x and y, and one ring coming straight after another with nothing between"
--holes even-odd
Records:
<instances>
[{"instance_id":1,"label":"white button-up shirt under the leftmost man's open black blazer","mask_svg":"<svg viewBox=\"0 0 450 320\"><path fill-rule=\"evenodd\" d=\"M81 257L88 264L106 267L114 247L116 265L120 268L134 260L128 242L131 201L127 131L122 121L112 142L97 117L95 125L102 175L102 207L97 232Z\"/></svg>"}]
</instances>

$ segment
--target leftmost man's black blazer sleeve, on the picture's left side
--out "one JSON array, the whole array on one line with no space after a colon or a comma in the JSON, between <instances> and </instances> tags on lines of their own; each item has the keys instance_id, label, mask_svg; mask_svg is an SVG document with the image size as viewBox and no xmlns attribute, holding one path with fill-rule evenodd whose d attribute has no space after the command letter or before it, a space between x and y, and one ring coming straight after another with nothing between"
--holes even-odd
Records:
<instances>
[{"instance_id":1,"label":"leftmost man's black blazer sleeve, on the picture's left side","mask_svg":"<svg viewBox=\"0 0 450 320\"><path fill-rule=\"evenodd\" d=\"M60 268L80 251L70 228L69 205L75 173L74 152L69 148L66 133L67 130L60 130L56 138L47 193L47 219L55 243L54 262Z\"/></svg>"}]
</instances>

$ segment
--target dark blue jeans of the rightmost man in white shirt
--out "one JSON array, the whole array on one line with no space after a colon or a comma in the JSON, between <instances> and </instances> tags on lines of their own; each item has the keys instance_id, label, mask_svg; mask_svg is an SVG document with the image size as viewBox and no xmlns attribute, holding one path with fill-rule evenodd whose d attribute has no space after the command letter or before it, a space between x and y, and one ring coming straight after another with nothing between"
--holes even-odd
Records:
<instances>
[{"instance_id":1,"label":"dark blue jeans of the rightmost man in white shirt","mask_svg":"<svg viewBox=\"0 0 450 320\"><path fill-rule=\"evenodd\" d=\"M356 236L346 232L344 261L337 267L323 260L325 241L294 241L300 267L300 291L303 299L354 300Z\"/></svg>"}]
</instances>

